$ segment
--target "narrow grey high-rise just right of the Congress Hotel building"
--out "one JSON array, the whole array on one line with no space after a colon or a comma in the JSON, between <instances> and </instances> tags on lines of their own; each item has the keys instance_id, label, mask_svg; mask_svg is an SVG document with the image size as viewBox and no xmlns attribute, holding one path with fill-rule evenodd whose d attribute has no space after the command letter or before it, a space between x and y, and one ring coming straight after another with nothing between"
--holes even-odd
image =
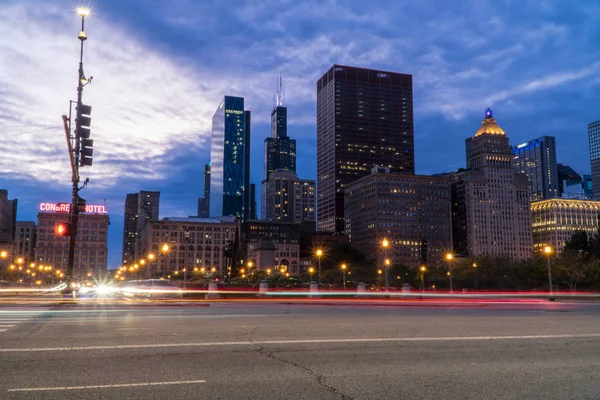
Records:
<instances>
[{"instance_id":1,"label":"narrow grey high-rise just right of the Congress Hotel building","mask_svg":"<svg viewBox=\"0 0 600 400\"><path fill-rule=\"evenodd\" d=\"M123 264L130 264L139 258L139 237L151 220L159 214L160 192L142 190L128 193L125 198L123 223Z\"/></svg>"}]
</instances>

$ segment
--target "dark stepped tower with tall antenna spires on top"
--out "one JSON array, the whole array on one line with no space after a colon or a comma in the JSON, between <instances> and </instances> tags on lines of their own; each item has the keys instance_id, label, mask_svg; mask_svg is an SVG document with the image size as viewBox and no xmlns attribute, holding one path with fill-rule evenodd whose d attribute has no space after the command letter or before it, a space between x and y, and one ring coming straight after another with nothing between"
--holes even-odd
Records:
<instances>
[{"instance_id":1,"label":"dark stepped tower with tall antenna spires on top","mask_svg":"<svg viewBox=\"0 0 600 400\"><path fill-rule=\"evenodd\" d=\"M296 172L296 141L287 135L287 107L284 106L283 82L277 81L275 106L271 111L271 137L265 139L265 177L275 170Z\"/></svg>"}]
</instances>

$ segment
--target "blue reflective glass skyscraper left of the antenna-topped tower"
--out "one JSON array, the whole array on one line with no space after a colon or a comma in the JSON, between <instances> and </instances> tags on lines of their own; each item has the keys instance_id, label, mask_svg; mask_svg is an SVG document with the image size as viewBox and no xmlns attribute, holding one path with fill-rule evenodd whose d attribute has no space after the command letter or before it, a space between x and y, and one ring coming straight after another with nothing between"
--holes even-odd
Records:
<instances>
[{"instance_id":1,"label":"blue reflective glass skyscraper left of the antenna-topped tower","mask_svg":"<svg viewBox=\"0 0 600 400\"><path fill-rule=\"evenodd\" d=\"M244 98L225 96L212 119L210 216L249 213L250 111Z\"/></svg>"}]
</instances>

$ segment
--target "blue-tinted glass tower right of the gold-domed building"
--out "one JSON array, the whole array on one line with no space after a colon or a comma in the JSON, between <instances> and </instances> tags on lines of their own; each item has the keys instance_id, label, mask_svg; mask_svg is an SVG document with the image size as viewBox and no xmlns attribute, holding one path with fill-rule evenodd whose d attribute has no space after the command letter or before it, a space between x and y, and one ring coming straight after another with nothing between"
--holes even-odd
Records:
<instances>
[{"instance_id":1,"label":"blue-tinted glass tower right of the gold-domed building","mask_svg":"<svg viewBox=\"0 0 600 400\"><path fill-rule=\"evenodd\" d=\"M559 183L554 136L542 136L513 146L512 150L515 172L527 175L531 183L530 201L558 197Z\"/></svg>"}]
</instances>

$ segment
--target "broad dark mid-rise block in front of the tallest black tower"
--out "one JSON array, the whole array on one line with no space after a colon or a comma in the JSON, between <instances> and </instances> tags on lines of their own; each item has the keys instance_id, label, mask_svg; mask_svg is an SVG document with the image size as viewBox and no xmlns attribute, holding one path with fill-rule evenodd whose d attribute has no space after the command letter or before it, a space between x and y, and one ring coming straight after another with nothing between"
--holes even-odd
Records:
<instances>
[{"instance_id":1,"label":"broad dark mid-rise block in front of the tallest black tower","mask_svg":"<svg viewBox=\"0 0 600 400\"><path fill-rule=\"evenodd\" d=\"M378 265L383 265L383 239L390 243L391 263L410 268L438 265L452 248L450 180L446 177L374 168L371 175L346 186L345 203L350 242Z\"/></svg>"}]
</instances>

